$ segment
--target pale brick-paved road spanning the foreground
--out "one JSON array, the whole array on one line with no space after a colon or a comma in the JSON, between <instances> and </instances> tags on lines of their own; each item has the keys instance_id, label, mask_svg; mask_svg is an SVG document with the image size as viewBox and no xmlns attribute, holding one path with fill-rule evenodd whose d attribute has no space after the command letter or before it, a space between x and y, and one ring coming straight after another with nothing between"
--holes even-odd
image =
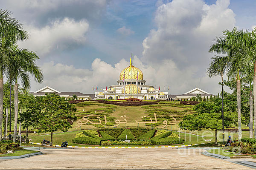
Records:
<instances>
[{"instance_id":1,"label":"pale brick-paved road spanning the foreground","mask_svg":"<svg viewBox=\"0 0 256 170\"><path fill-rule=\"evenodd\" d=\"M0 169L186 169L248 170L250 168L201 154L201 150L172 148L41 149L43 155L1 160Z\"/></svg>"}]
</instances>

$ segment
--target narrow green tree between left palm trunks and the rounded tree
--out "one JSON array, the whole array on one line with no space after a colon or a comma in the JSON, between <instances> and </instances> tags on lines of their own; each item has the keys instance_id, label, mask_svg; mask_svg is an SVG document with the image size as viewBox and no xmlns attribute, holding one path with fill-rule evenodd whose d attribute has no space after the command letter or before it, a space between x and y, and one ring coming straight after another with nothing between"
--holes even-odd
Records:
<instances>
[{"instance_id":1,"label":"narrow green tree between left palm trunks and the rounded tree","mask_svg":"<svg viewBox=\"0 0 256 170\"><path fill-rule=\"evenodd\" d=\"M29 143L29 126L36 126L41 117L42 96L34 97L32 94L25 92L20 97L20 103L26 108L25 112L20 113L20 122L23 129L26 129L26 143Z\"/></svg>"}]
</instances>

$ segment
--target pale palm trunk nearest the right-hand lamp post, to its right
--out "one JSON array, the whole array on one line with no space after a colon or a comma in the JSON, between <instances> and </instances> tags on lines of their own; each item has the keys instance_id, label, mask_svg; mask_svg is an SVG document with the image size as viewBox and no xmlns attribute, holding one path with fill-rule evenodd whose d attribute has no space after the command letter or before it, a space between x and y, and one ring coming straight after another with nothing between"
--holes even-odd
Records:
<instances>
[{"instance_id":1,"label":"pale palm trunk nearest the right-hand lamp post, to its right","mask_svg":"<svg viewBox=\"0 0 256 170\"><path fill-rule=\"evenodd\" d=\"M241 82L238 76L236 80L236 91L237 91L237 117L238 117L238 140L242 139L242 127L241 127Z\"/></svg>"}]
</instances>

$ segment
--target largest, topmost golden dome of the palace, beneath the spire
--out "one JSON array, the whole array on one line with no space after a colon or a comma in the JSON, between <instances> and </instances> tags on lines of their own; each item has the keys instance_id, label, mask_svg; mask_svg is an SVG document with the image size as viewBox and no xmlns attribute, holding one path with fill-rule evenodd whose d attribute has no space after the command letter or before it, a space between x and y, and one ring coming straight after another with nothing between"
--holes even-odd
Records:
<instances>
[{"instance_id":1,"label":"largest, topmost golden dome of the palace, beneath the spire","mask_svg":"<svg viewBox=\"0 0 256 170\"><path fill-rule=\"evenodd\" d=\"M140 71L139 68L136 68L133 65L131 65L131 73L130 73L129 67L130 66L128 66L127 68L121 71L119 76L120 80L124 79L124 73L125 73L125 79L137 79L137 71L138 71L138 79L143 80L143 73L142 71Z\"/></svg>"}]
</instances>

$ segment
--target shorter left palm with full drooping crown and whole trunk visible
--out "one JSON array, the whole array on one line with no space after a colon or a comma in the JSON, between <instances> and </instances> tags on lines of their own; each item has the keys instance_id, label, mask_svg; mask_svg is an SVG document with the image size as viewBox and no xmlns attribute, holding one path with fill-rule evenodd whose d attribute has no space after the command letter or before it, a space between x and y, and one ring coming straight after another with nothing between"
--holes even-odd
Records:
<instances>
[{"instance_id":1,"label":"shorter left palm with full drooping crown and whole trunk visible","mask_svg":"<svg viewBox=\"0 0 256 170\"><path fill-rule=\"evenodd\" d=\"M7 77L10 82L14 82L14 137L13 141L16 142L17 136L17 119L18 119L18 79L21 80L23 89L30 88L29 74L34 76L35 81L41 83L44 79L41 69L36 65L36 59L39 57L32 51L27 49L20 49L17 45L12 45L8 50L7 57Z\"/></svg>"}]
</instances>

